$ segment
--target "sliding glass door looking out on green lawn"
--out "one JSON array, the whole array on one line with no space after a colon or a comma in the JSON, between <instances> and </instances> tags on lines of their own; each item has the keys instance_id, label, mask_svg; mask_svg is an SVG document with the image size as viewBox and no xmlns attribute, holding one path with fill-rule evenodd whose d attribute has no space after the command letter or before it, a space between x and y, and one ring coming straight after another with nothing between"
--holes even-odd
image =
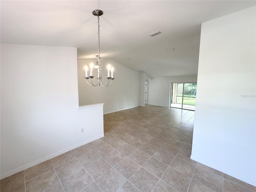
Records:
<instances>
[{"instance_id":1,"label":"sliding glass door looking out on green lawn","mask_svg":"<svg viewBox=\"0 0 256 192\"><path fill-rule=\"evenodd\" d=\"M170 107L195 110L196 83L171 83Z\"/></svg>"}]
</instances>

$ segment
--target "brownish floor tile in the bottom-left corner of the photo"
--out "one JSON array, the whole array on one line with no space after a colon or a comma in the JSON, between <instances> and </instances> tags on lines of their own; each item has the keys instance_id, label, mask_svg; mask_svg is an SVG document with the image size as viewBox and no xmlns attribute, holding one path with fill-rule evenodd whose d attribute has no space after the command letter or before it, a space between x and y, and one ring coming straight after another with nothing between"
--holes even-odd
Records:
<instances>
[{"instance_id":1,"label":"brownish floor tile in the bottom-left corner of the photo","mask_svg":"<svg viewBox=\"0 0 256 192\"><path fill-rule=\"evenodd\" d=\"M24 184L24 171L2 179L0 182L1 192L8 192L21 184Z\"/></svg>"}]
</instances>

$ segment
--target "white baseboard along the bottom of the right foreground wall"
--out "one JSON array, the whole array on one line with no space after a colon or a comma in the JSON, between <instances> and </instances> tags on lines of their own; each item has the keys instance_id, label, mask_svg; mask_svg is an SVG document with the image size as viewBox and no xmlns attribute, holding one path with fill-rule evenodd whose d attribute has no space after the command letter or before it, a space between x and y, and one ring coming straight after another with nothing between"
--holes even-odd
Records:
<instances>
[{"instance_id":1,"label":"white baseboard along the bottom of the right foreground wall","mask_svg":"<svg viewBox=\"0 0 256 192\"><path fill-rule=\"evenodd\" d=\"M235 174L235 173L233 173L233 172L230 172L230 170L226 170L226 169L224 169L224 168L222 168L222 167L219 167L219 166L217 166L217 165L214 165L214 164L211 164L211 163L209 163L209 162L206 162L206 161L204 161L204 160L202 160L202 159L200 159L200 158L197 158L197 157L195 157L195 156L192 156L192 155L191 155L190 158L191 158L192 160L194 160L194 161L197 161L197 162L202 163L202 164L204 164L204 165L206 165L206 166L209 166L209 167L211 167L211 168L214 168L214 169L216 169L216 170L218 170L218 171L220 171L220 172L222 172L222 173L228 174L228 175L230 175L230 176L232 176L232 177L234 177L234 178L237 178L237 179L239 179L239 180L241 180L241 181L244 181L244 182L246 182L246 183L248 183L248 184L251 184L251 185L253 185L253 186L256 186L256 181L255 181L255 180L250 180L250 179L248 179L248 178L241 177L240 175L237 175L237 174Z\"/></svg>"}]
</instances>

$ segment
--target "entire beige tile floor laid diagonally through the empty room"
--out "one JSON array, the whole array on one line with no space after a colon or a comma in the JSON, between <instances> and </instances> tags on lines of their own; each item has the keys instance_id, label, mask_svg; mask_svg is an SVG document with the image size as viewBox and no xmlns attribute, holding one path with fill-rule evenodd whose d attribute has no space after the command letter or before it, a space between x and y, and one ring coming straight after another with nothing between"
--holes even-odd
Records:
<instances>
[{"instance_id":1,"label":"entire beige tile floor laid diagonally through the empty room","mask_svg":"<svg viewBox=\"0 0 256 192\"><path fill-rule=\"evenodd\" d=\"M256 192L190 159L194 112L159 106L104 115L105 136L1 180L1 192Z\"/></svg>"}]
</instances>

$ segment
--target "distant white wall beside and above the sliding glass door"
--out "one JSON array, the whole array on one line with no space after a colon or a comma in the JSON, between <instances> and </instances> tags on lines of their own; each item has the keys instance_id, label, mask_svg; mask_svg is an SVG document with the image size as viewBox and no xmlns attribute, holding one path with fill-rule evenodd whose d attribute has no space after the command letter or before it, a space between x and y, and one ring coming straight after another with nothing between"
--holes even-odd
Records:
<instances>
[{"instance_id":1,"label":"distant white wall beside and above the sliding glass door","mask_svg":"<svg viewBox=\"0 0 256 192\"><path fill-rule=\"evenodd\" d=\"M170 83L196 83L197 76L160 77L148 82L148 104L170 107Z\"/></svg>"}]
</instances>

